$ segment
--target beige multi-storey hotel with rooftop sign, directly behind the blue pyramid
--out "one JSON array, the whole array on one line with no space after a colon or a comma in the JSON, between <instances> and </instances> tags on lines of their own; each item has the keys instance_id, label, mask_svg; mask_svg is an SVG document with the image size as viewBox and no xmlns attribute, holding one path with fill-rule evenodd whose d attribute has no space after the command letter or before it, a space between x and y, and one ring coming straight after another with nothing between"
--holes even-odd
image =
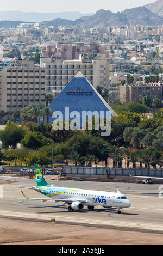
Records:
<instances>
[{"instance_id":1,"label":"beige multi-storey hotel with rooftop sign, directly behind the blue pyramid","mask_svg":"<svg viewBox=\"0 0 163 256\"><path fill-rule=\"evenodd\" d=\"M109 87L109 57L103 54L80 54L78 60L51 62L49 58L40 59L40 66L46 70L46 93L56 97L62 89L81 71L87 80L96 88Z\"/></svg>"}]
</instances>

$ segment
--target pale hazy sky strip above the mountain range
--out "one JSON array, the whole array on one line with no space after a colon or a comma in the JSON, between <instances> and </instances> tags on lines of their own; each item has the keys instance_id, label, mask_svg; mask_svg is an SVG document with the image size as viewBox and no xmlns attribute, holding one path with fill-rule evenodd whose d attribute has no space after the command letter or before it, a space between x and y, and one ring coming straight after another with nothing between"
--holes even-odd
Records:
<instances>
[{"instance_id":1,"label":"pale hazy sky strip above the mountain range","mask_svg":"<svg viewBox=\"0 0 163 256\"><path fill-rule=\"evenodd\" d=\"M36 11L43 13L65 11L95 13L99 9L104 9L116 13L126 8L138 7L152 2L155 2L155 0L5 0L1 1L0 10Z\"/></svg>"}]
</instances>

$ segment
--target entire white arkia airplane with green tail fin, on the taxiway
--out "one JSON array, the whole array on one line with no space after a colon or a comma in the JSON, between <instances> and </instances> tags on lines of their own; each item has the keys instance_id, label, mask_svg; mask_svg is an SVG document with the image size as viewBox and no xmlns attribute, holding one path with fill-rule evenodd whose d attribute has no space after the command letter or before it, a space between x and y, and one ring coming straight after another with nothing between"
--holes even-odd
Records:
<instances>
[{"instance_id":1,"label":"entire white arkia airplane with green tail fin, on the taxiway","mask_svg":"<svg viewBox=\"0 0 163 256\"><path fill-rule=\"evenodd\" d=\"M93 210L95 206L101 205L104 208L115 207L117 213L121 214L120 209L131 206L129 199L122 194L117 187L117 192L83 190L79 188L55 187L49 185L37 166L34 164L37 186L33 187L35 191L41 193L47 198L28 198L22 192L26 199L41 200L42 202L52 201L54 203L64 202L68 204L68 211L83 210L87 206L88 210Z\"/></svg>"}]
</instances>

